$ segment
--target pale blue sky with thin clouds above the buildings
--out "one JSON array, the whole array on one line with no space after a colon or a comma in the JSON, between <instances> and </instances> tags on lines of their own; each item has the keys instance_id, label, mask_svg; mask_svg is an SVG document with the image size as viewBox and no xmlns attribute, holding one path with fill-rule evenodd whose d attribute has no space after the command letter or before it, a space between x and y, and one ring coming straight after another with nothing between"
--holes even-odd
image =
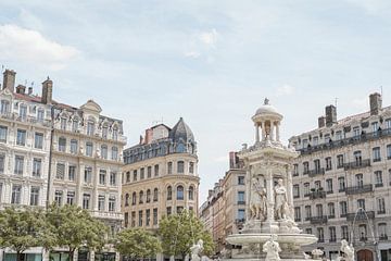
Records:
<instances>
[{"instance_id":1,"label":"pale blue sky with thin clouds above the buildings","mask_svg":"<svg viewBox=\"0 0 391 261\"><path fill-rule=\"evenodd\" d=\"M325 107L338 117L391 104L391 1L5 1L0 65L17 83L50 76L53 98L93 99L124 121L128 147L180 116L198 141L200 204L254 142L251 116L267 97L281 138L311 130Z\"/></svg>"}]
</instances>

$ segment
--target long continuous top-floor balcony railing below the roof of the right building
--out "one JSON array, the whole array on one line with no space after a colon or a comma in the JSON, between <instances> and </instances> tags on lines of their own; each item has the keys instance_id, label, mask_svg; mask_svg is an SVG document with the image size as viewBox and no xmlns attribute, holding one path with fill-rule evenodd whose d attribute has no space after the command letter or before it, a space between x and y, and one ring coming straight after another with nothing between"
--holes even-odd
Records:
<instances>
[{"instance_id":1,"label":"long continuous top-floor balcony railing below the roof of the right building","mask_svg":"<svg viewBox=\"0 0 391 261\"><path fill-rule=\"evenodd\" d=\"M340 140L330 140L329 142L320 144L317 146L308 146L307 148L298 149L302 154L311 154L320 150L329 150L335 148L340 148L348 145L355 145L361 142L366 142L368 140L379 139L381 137L391 136L391 128L381 129L374 133L362 134L357 137L344 138Z\"/></svg>"}]
</instances>

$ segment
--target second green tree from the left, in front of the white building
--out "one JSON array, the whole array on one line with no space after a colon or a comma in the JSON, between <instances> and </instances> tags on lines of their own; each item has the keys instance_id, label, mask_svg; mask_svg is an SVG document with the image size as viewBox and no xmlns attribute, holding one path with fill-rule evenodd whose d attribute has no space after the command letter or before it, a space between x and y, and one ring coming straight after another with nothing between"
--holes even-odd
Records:
<instances>
[{"instance_id":1,"label":"second green tree from the left, in front of the white building","mask_svg":"<svg viewBox=\"0 0 391 261\"><path fill-rule=\"evenodd\" d=\"M70 261L80 247L100 250L105 244L108 227L79 207L52 204L47 217L55 235L55 245L68 248Z\"/></svg>"}]
</instances>

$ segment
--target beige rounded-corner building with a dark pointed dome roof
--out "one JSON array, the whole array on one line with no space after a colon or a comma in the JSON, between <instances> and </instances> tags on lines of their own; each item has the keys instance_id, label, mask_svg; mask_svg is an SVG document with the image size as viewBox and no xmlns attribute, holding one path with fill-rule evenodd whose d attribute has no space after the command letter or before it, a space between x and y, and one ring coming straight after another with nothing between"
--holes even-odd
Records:
<instances>
[{"instance_id":1,"label":"beige rounded-corner building with a dark pointed dome roof","mask_svg":"<svg viewBox=\"0 0 391 261\"><path fill-rule=\"evenodd\" d=\"M140 142L124 151L123 206L125 227L157 229L164 215L198 211L197 142L180 119L146 130Z\"/></svg>"}]
</instances>

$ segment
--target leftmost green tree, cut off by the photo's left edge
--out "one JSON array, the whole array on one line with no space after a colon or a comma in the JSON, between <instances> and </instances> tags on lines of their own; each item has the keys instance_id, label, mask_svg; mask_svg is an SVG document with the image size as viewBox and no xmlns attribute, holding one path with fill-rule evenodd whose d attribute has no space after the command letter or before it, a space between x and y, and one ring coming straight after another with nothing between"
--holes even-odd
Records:
<instances>
[{"instance_id":1,"label":"leftmost green tree, cut off by the photo's left edge","mask_svg":"<svg viewBox=\"0 0 391 261\"><path fill-rule=\"evenodd\" d=\"M28 248L50 248L53 244L54 236L48 229L42 209L12 207L0 212L0 246L13 249L17 261Z\"/></svg>"}]
</instances>

